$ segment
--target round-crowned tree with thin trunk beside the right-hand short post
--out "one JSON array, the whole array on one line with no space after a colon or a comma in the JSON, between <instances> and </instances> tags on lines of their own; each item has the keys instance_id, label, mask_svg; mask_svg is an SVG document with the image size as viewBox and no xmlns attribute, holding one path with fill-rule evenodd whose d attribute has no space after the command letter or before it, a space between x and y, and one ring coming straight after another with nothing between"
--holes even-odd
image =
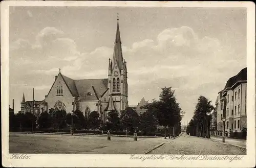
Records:
<instances>
[{"instance_id":1,"label":"round-crowned tree with thin trunk beside the right-hand short post","mask_svg":"<svg viewBox=\"0 0 256 168\"><path fill-rule=\"evenodd\" d=\"M129 130L136 130L139 126L139 115L131 107L126 107L124 111L121 111L120 119L121 125L126 128L126 133L128 133Z\"/></svg>"}]
</instances>

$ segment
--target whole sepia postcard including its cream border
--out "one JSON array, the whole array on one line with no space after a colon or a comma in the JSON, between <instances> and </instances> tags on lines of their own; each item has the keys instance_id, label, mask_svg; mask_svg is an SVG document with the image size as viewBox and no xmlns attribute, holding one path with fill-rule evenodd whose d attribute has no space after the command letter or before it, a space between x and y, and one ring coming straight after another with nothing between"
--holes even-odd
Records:
<instances>
[{"instance_id":1,"label":"whole sepia postcard including its cream border","mask_svg":"<svg viewBox=\"0 0 256 168\"><path fill-rule=\"evenodd\" d=\"M243 165L255 157L247 7L100 3L8 6L1 88L10 159L126 154Z\"/></svg>"}]
</instances>

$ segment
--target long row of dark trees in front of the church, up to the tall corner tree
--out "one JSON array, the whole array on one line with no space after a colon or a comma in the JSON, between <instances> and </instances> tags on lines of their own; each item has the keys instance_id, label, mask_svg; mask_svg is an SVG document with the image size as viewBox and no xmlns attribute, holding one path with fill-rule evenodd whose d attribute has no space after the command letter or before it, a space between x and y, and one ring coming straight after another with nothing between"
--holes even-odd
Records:
<instances>
[{"instance_id":1,"label":"long row of dark trees in front of the church, up to the tall corner tree","mask_svg":"<svg viewBox=\"0 0 256 168\"><path fill-rule=\"evenodd\" d=\"M73 130L111 130L138 132L143 135L159 131L159 126L164 128L164 136L166 138L167 128L168 135L178 135L181 132L181 118L183 111L175 98L175 91L172 87L164 87L159 95L159 100L153 100L141 107L146 109L142 114L138 114L133 108L127 107L118 112L112 110L107 114L107 122L100 120L100 114L92 111L88 117L85 117L81 111L74 111ZM37 129L67 129L71 126L71 113L62 110L50 109L49 113L43 112L39 118L33 116L32 113L17 113L10 116L10 130L32 128ZM172 131L172 130L175 130Z\"/></svg>"}]
</instances>

